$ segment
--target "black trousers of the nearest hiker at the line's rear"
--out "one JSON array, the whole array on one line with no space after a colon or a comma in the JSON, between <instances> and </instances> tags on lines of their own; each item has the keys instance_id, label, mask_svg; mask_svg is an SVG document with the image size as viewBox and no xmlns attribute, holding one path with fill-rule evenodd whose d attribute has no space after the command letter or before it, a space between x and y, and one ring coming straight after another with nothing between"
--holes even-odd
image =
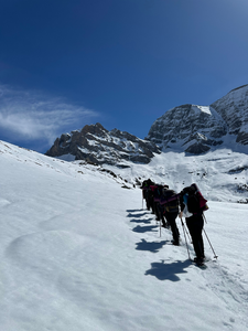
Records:
<instances>
[{"instance_id":1,"label":"black trousers of the nearest hiker at the line's rear","mask_svg":"<svg viewBox=\"0 0 248 331\"><path fill-rule=\"evenodd\" d=\"M204 257L205 256L204 243L202 236L203 225L204 225L203 215L197 214L191 217L186 217L186 225L192 237L196 257L197 258Z\"/></svg>"}]
</instances>

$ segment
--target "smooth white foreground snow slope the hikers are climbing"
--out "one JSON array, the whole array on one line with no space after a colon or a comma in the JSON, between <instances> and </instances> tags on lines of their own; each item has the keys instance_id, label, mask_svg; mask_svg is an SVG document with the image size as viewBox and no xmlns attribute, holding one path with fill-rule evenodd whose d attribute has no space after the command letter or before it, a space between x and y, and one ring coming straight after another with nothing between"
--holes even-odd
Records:
<instances>
[{"instance_id":1,"label":"smooth white foreground snow slope the hikers are climbing","mask_svg":"<svg viewBox=\"0 0 248 331\"><path fill-rule=\"evenodd\" d=\"M152 170L175 189L183 185L180 161L190 167L179 158L174 172L159 158ZM212 159L213 171L219 169ZM244 159L236 154L233 162ZM205 229L218 259L202 270L188 261L180 220L175 247L170 231L160 236L142 209L140 190L98 170L0 141L0 330L247 330L248 205L208 202ZM184 173L187 184L194 177ZM224 178L214 178L220 186ZM205 194L208 184L200 184ZM219 190L206 193L223 200Z\"/></svg>"}]
</instances>

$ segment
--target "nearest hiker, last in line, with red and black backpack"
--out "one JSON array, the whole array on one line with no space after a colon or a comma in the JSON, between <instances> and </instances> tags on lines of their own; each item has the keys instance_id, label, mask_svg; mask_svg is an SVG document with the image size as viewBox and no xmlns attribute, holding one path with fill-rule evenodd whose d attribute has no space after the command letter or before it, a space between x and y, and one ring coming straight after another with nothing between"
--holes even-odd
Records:
<instances>
[{"instance_id":1,"label":"nearest hiker, last in line, with red and black backpack","mask_svg":"<svg viewBox=\"0 0 248 331\"><path fill-rule=\"evenodd\" d=\"M184 216L186 220L186 225L190 231L196 255L194 260L202 264L205 259L204 242L202 236L204 226L203 207L200 205L200 199L193 185L183 189L180 194L180 218Z\"/></svg>"}]
</instances>

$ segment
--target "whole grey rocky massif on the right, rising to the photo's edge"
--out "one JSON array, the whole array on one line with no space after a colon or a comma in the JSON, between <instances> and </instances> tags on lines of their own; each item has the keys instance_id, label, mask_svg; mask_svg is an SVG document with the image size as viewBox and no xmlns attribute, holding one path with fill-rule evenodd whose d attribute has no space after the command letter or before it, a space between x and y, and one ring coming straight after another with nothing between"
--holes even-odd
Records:
<instances>
[{"instance_id":1,"label":"whole grey rocky massif on the right, rising to the photo's edge","mask_svg":"<svg viewBox=\"0 0 248 331\"><path fill-rule=\"evenodd\" d=\"M158 118L145 139L161 149L200 154L227 137L248 145L248 85L233 89L211 106L183 105Z\"/></svg>"}]
</instances>

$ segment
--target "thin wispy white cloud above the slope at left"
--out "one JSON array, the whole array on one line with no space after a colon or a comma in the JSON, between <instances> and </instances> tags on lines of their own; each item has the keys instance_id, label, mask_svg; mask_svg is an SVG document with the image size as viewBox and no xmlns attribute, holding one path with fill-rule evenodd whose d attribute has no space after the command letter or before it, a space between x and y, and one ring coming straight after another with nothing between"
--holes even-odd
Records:
<instances>
[{"instance_id":1,"label":"thin wispy white cloud above the slope at left","mask_svg":"<svg viewBox=\"0 0 248 331\"><path fill-rule=\"evenodd\" d=\"M22 140L45 139L51 145L65 130L79 129L97 116L62 98L0 85L0 129Z\"/></svg>"}]
</instances>

